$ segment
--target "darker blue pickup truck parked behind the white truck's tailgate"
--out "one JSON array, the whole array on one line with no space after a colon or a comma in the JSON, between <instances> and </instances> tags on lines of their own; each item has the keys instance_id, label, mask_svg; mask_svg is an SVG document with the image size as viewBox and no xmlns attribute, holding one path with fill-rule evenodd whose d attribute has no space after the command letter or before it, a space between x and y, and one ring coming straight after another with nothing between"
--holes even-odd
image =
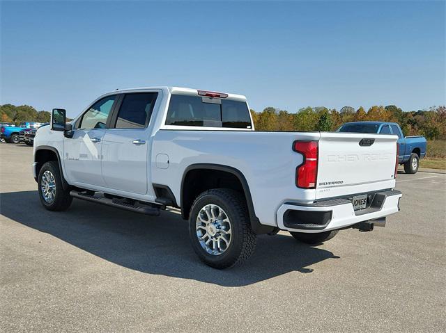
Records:
<instances>
[{"instance_id":1,"label":"darker blue pickup truck parked behind the white truck's tailgate","mask_svg":"<svg viewBox=\"0 0 446 333\"><path fill-rule=\"evenodd\" d=\"M403 136L403 131L396 122L346 122L337 132L381 133L398 136L399 164L404 165L406 173L418 171L420 159L426 156L426 138L424 136Z\"/></svg>"}]
</instances>

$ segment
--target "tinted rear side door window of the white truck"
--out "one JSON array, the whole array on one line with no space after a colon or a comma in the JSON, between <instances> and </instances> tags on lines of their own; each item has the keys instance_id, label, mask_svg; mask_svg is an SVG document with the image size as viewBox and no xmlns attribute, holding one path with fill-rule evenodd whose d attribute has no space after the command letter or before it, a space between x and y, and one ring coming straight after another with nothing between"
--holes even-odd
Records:
<instances>
[{"instance_id":1,"label":"tinted rear side door window of the white truck","mask_svg":"<svg viewBox=\"0 0 446 333\"><path fill-rule=\"evenodd\" d=\"M151 119L157 92L127 94L116 118L116 129L143 129Z\"/></svg>"}]
</instances>

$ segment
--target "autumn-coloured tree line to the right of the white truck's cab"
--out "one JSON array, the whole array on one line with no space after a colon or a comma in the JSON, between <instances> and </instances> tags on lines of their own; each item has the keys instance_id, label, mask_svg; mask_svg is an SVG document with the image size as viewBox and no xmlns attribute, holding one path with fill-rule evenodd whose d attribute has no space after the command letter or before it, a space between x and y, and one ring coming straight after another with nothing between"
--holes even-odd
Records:
<instances>
[{"instance_id":1,"label":"autumn-coloured tree line to the right of the white truck's cab","mask_svg":"<svg viewBox=\"0 0 446 333\"><path fill-rule=\"evenodd\" d=\"M325 106L300 108L289 113L268 107L261 112L251 110L258 131L335 131L345 122L397 122L405 136L425 136L430 140L446 140L446 107L433 106L427 110L403 111L398 106L362 106L355 110L344 106L339 111Z\"/></svg>"}]
</instances>

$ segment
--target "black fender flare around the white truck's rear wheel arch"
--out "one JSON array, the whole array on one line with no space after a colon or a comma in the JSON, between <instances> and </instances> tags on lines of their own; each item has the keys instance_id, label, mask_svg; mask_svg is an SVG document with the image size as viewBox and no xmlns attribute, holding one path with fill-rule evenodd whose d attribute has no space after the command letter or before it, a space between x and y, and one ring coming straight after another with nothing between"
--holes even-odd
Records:
<instances>
[{"instance_id":1,"label":"black fender flare around the white truck's rear wheel arch","mask_svg":"<svg viewBox=\"0 0 446 333\"><path fill-rule=\"evenodd\" d=\"M183 193L184 193L184 181L185 177L188 172L191 170L196 169L208 169L208 170L218 170L218 171L224 171L229 172L237 177L237 179L240 181L240 184L242 184L243 192L245 193L245 198L247 202L247 208L248 208L248 214L249 214L249 221L251 222L251 228L252 231L255 234L268 234L270 232L273 232L275 227L272 227L270 225L262 225L260 223L259 218L256 216L256 213L254 211L254 203L252 202L252 196L251 191L249 190L248 182L240 170L233 168L229 165L221 165L221 164L212 164L212 163L197 163L197 164L191 164L189 165L183 173L183 178L181 179L181 188L180 188L180 202L183 206ZM181 216L186 219L186 212L184 209L181 209Z\"/></svg>"}]
</instances>

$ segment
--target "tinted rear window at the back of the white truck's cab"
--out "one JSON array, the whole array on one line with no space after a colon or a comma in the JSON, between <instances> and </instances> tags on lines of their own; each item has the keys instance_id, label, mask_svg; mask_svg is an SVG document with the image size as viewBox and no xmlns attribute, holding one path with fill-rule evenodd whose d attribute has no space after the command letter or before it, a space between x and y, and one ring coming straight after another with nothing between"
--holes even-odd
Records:
<instances>
[{"instance_id":1,"label":"tinted rear window at the back of the white truck's cab","mask_svg":"<svg viewBox=\"0 0 446 333\"><path fill-rule=\"evenodd\" d=\"M250 129L251 118L243 101L172 95L167 125Z\"/></svg>"}]
</instances>

